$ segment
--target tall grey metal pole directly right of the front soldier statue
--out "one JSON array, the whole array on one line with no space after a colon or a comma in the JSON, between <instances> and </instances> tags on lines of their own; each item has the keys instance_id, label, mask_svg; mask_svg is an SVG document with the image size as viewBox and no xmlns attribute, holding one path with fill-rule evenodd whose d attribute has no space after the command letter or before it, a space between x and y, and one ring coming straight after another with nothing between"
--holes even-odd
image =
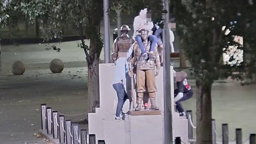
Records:
<instances>
[{"instance_id":1,"label":"tall grey metal pole directly right of the front soldier statue","mask_svg":"<svg viewBox=\"0 0 256 144\"><path fill-rule=\"evenodd\" d=\"M165 144L173 144L173 108L171 102L171 72L170 72L170 35L169 35L169 0L163 0L164 9L167 13L164 14L164 30L163 30L163 84L164 84L164 138Z\"/></svg>"}]
</instances>

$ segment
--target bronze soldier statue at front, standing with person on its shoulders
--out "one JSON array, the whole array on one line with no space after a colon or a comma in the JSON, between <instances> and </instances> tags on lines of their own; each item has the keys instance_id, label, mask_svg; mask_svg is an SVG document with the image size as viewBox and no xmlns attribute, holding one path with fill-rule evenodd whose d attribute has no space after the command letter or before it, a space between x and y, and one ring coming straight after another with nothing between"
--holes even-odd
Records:
<instances>
[{"instance_id":1,"label":"bronze soldier statue at front, standing with person on its shoulders","mask_svg":"<svg viewBox=\"0 0 256 144\"><path fill-rule=\"evenodd\" d=\"M151 42L148 41L148 30L140 30L141 38L143 39L143 45L145 46L146 52L150 50ZM144 92L147 92L149 95L151 109L158 110L159 107L156 105L156 76L159 74L160 69L160 58L157 50L157 44L154 48L154 58L144 59L141 55L141 49L139 48L138 42L134 44L134 57L132 58L131 65L134 66L137 63L136 70L136 92L137 92L137 107L135 111L141 110L141 104L143 100ZM133 76L133 69L130 68L129 75Z\"/></svg>"}]
</instances>

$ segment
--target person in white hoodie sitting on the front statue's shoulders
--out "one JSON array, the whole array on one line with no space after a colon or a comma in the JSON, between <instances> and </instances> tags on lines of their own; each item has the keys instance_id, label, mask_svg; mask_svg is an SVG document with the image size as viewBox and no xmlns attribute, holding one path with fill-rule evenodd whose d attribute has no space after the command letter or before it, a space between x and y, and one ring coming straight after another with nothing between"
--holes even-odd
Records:
<instances>
[{"instance_id":1,"label":"person in white hoodie sitting on the front statue's shoulders","mask_svg":"<svg viewBox=\"0 0 256 144\"><path fill-rule=\"evenodd\" d=\"M147 8L143 9L140 11L139 15L134 18L134 35L133 38L138 42L139 48L141 49L142 52L142 57L144 59L149 58L154 58L154 49L157 43L157 37L155 35L152 35L153 31L152 28L154 27L153 22L151 21L151 18L147 18ZM149 54L147 54L145 50L145 46L143 44L143 41L141 39L139 31L145 29L149 31L149 36L148 39L151 41L151 46L149 50Z\"/></svg>"}]
</instances>

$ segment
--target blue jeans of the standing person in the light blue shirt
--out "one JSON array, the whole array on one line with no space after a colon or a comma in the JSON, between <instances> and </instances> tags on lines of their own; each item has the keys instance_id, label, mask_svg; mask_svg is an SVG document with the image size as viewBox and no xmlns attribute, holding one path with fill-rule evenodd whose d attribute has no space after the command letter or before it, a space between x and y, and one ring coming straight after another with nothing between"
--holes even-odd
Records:
<instances>
[{"instance_id":1,"label":"blue jeans of the standing person in the light blue shirt","mask_svg":"<svg viewBox=\"0 0 256 144\"><path fill-rule=\"evenodd\" d=\"M124 89L124 84L122 83L113 84L113 88L117 92L117 98L118 98L117 111L115 113L115 116L120 116L120 113L122 112L122 107L124 105L124 102L128 98L128 95Z\"/></svg>"}]
</instances>

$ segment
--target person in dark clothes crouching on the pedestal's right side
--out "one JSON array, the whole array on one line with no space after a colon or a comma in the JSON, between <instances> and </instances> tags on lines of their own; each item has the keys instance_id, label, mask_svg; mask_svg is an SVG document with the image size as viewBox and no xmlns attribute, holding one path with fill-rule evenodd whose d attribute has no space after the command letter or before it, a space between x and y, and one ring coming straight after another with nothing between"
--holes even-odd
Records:
<instances>
[{"instance_id":1,"label":"person in dark clothes crouching on the pedestal's right side","mask_svg":"<svg viewBox=\"0 0 256 144\"><path fill-rule=\"evenodd\" d=\"M176 103L176 109L180 113L180 116L186 116L186 113L182 107L181 102L188 100L193 96L193 90L187 82L187 73L184 71L174 73L175 81L177 81L177 88L174 90L174 102Z\"/></svg>"}]
</instances>

